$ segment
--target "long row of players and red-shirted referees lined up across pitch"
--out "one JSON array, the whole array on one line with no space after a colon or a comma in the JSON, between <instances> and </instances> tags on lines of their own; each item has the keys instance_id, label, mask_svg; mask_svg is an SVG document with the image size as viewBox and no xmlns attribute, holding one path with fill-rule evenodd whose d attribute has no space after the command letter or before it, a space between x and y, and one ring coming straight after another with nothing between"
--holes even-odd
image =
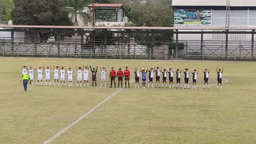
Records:
<instances>
[{"instance_id":1,"label":"long row of players and red-shirted referees lined up across pitch","mask_svg":"<svg viewBox=\"0 0 256 144\"><path fill-rule=\"evenodd\" d=\"M46 67L45 66L39 67L39 69L37 69L35 67L35 69L33 69L32 67L30 67L30 69L28 69L27 66L21 66L22 67L22 74L27 74L27 72L29 72L29 78L31 80L31 86L33 86L33 80L34 80L34 71L37 71L38 77L37 77L37 86L39 85L39 81L41 81L41 85L43 85L43 70L45 70L45 86L47 86L47 82L49 82L49 84L51 85L51 65L50 67ZM53 65L54 67L54 65ZM89 68L91 70L92 73L92 87L95 84L95 87L97 87L97 71L98 71L98 66L96 68L92 68L91 66L89 67L87 66L83 66L82 67L78 67L78 65L76 66L76 70L77 70L77 87L80 84L80 87L82 87L82 81L84 80L84 87L85 84L87 82L87 87L89 87ZM102 87L102 85L105 85L106 88L106 67L100 67L100 71L101 71L101 84L100 87ZM83 74L82 72L84 71L84 79L82 78ZM217 67L217 89L219 89L219 84L221 86L221 90L222 90L222 73L223 73L223 66L222 69L219 69L219 67ZM69 68L68 70L66 70L66 68L57 66L54 67L54 86L56 86L56 82L57 85L59 86L59 72L60 72L60 86L62 86L62 82L63 82L63 86L66 86L65 84L65 73L67 73L68 75L68 84L69 87L73 87L73 74L75 73L75 69L71 70L71 68ZM146 89L146 81L147 81L147 72L149 73L148 76L148 86L147 88L149 89L150 84L152 85L152 88L154 89L154 84L153 84L153 77L154 77L154 73L156 73L156 83L155 83L155 87L157 87L157 84L159 86L159 88L161 88L161 83L160 83L160 74L163 74L163 79L162 79L162 88L164 88L164 84L165 84L165 88L167 88L167 74L169 74L169 89L174 89L174 84L173 84L173 75L174 75L174 67L173 69L162 69L159 67L151 67L149 68L141 68L140 70L138 68L136 68L134 70L134 74L135 74L135 89L138 87L139 88L139 80L140 80L140 73L142 72L142 89ZM176 69L175 70L176 73L176 89L178 89L178 86L180 86L180 89L182 89L181 87L181 69ZM182 68L182 73L185 74L185 89L189 89L189 69L186 68L185 71ZM197 84L197 75L198 75L198 69L192 69L191 73L193 74L193 85L192 85L192 89L197 89L196 88L196 84ZM209 89L209 73L210 73L210 69L204 69L203 70L204 73L204 85L203 85L203 89L205 89L205 84L207 84L207 89ZM116 87L116 79L118 79L118 88L121 84L121 88L123 88L123 78L125 79L125 88L128 87L130 88L130 70L128 67L125 68L124 71L122 71L122 68L119 68L119 70L116 72L114 70L114 67L111 68L110 73L109 73L109 78L110 78L110 88L112 88L113 82L114 82L114 86Z\"/></svg>"}]
</instances>

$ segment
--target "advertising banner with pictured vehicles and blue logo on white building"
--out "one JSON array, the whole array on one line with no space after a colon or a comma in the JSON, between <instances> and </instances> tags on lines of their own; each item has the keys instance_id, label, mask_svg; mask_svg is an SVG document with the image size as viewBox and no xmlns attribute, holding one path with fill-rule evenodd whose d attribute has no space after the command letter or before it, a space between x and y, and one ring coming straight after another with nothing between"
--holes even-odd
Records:
<instances>
[{"instance_id":1,"label":"advertising banner with pictured vehicles and blue logo on white building","mask_svg":"<svg viewBox=\"0 0 256 144\"><path fill-rule=\"evenodd\" d=\"M175 10L174 13L176 27L210 27L211 20L211 10Z\"/></svg>"}]
</instances>

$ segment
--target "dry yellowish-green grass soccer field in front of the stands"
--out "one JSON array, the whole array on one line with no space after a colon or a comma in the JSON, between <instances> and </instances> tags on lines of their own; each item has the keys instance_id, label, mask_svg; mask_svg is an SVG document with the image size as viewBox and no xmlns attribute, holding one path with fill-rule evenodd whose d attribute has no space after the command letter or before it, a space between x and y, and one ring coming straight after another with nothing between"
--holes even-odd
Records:
<instances>
[{"instance_id":1,"label":"dry yellowish-green grass soccer field in front of the stands","mask_svg":"<svg viewBox=\"0 0 256 144\"><path fill-rule=\"evenodd\" d=\"M107 76L111 67L117 71L127 66L131 79L135 68L156 64L198 69L199 74L197 90L134 89L134 80L132 89L99 88L98 72L98 88L53 87L52 83L51 87L29 86L23 93L19 81L21 65L26 64L33 68L106 66ZM0 66L0 143L256 142L254 62L1 58ZM217 66L224 66L223 90L216 89ZM209 90L202 89L205 67L211 70ZM76 77L75 73L74 85ZM181 79L184 87L184 74ZM108 79L107 87L109 83Z\"/></svg>"}]
</instances>

